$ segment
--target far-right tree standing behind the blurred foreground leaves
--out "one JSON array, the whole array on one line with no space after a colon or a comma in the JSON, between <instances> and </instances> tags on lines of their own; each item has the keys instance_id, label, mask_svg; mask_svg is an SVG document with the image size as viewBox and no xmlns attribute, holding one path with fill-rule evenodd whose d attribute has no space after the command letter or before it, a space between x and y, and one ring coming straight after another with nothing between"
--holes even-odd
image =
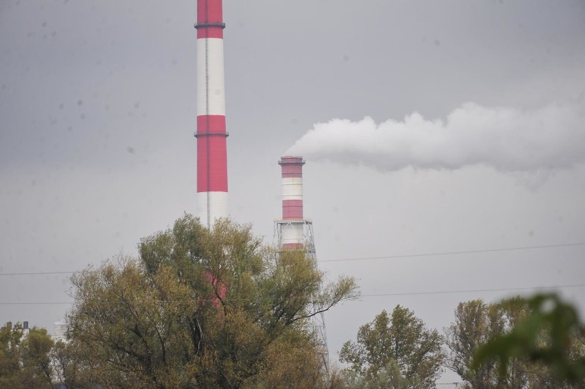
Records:
<instances>
[{"instance_id":1,"label":"far-right tree standing behind the blurred foreground leaves","mask_svg":"<svg viewBox=\"0 0 585 389\"><path fill-rule=\"evenodd\" d=\"M541 303L544 300L539 300ZM448 357L446 367L455 371L472 389L490 388L568 388L544 359L529 354L538 347L546 349L551 343L543 325L536 303L516 296L498 303L486 304L482 300L459 303L455 310L455 322L445 329ZM536 310L535 310L536 309ZM573 311L574 312L574 311ZM555 320L567 316L561 310L551 313ZM569 322L575 325L575 317L569 314ZM562 335L562 343L569 346L563 349L572 357L585 355L584 338L578 331L556 330ZM524 344L516 343L522 340ZM510 349L505 344L514 344ZM528 342L531 343L531 348ZM501 354L500 364L494 357L496 351L507 350ZM555 350L560 350L558 347ZM575 386L573 385L573 388Z\"/></svg>"}]
</instances>

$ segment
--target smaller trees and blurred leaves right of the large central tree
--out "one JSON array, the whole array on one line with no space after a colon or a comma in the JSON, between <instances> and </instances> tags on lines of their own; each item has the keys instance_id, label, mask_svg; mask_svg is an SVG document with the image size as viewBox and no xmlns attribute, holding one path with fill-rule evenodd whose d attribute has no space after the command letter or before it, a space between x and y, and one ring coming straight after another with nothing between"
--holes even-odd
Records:
<instances>
[{"instance_id":1,"label":"smaller trees and blurred leaves right of the large central tree","mask_svg":"<svg viewBox=\"0 0 585 389\"><path fill-rule=\"evenodd\" d=\"M585 388L585 327L555 295L459 303L443 334L398 305L339 353L345 388L435 388L443 370L465 389Z\"/></svg>"}]
</instances>

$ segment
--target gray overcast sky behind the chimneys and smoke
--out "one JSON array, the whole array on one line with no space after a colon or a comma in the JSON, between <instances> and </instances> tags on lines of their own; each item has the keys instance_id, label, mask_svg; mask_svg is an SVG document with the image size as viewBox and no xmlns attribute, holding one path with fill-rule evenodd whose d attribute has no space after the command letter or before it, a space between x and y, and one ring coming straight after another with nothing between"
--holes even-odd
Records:
<instances>
[{"instance_id":1,"label":"gray overcast sky behind the chimneys and smoke","mask_svg":"<svg viewBox=\"0 0 585 389\"><path fill-rule=\"evenodd\" d=\"M134 253L140 237L197 213L195 19L195 0L0 1L0 273L81 270ZM585 104L581 0L224 0L224 19L230 210L267 241L280 213L277 160L315 123L402 121L413 112L446 122L468 102L532 123L546 107L582 113ZM585 123L575 118L568 139L580 140ZM516 130L531 143L522 127L498 132L501 144L516 142ZM568 146L555 128L534 142L559 145L551 158L562 159ZM311 154L305 213L317 255L585 242L585 144L573 141L570 151L560 167L528 172L481 158L388 170L367 163L368 150ZM332 358L382 309L404 305L441 331L460 301L515 292L371 294L581 284L584 253L323 262L332 277L356 276L365 295L325 316ZM68 288L67 274L0 276L0 303L67 302ZM584 287L561 292L585 312ZM66 309L0 305L0 322L51 330Z\"/></svg>"}]
</instances>

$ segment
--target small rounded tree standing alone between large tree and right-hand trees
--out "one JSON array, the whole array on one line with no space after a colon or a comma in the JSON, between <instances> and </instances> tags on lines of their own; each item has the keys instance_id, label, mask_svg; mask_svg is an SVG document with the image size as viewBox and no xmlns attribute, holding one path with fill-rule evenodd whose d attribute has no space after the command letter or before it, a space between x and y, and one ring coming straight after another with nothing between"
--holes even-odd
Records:
<instances>
[{"instance_id":1,"label":"small rounded tree standing alone between large tree and right-hand trees","mask_svg":"<svg viewBox=\"0 0 585 389\"><path fill-rule=\"evenodd\" d=\"M339 360L351 364L349 380L363 388L430 388L441 373L444 354L436 330L413 311L397 305L360 327L357 343L345 342Z\"/></svg>"}]
</instances>

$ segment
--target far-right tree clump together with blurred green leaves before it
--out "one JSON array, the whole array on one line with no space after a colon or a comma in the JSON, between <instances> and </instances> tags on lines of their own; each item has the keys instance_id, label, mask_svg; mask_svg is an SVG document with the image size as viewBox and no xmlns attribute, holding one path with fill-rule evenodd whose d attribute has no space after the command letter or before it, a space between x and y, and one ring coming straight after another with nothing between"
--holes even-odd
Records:
<instances>
[{"instance_id":1,"label":"far-right tree clump together with blurred green leaves before it","mask_svg":"<svg viewBox=\"0 0 585 389\"><path fill-rule=\"evenodd\" d=\"M584 388L575 376L585 355L578 323L554 295L460 303L445 329L446 367L472 389Z\"/></svg>"}]
</instances>

